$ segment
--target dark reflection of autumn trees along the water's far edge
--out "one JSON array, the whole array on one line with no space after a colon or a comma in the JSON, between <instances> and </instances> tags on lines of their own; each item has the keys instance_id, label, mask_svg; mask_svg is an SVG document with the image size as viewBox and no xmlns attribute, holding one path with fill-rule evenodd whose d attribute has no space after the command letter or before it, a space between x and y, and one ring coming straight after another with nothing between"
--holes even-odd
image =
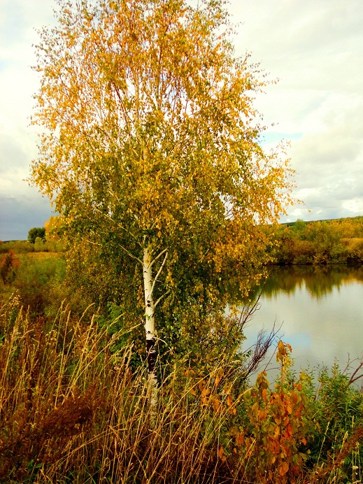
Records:
<instances>
[{"instance_id":1,"label":"dark reflection of autumn trees along the water's far edge","mask_svg":"<svg viewBox=\"0 0 363 484\"><path fill-rule=\"evenodd\" d=\"M291 266L273 268L262 287L266 297L283 291L293 293L304 285L313 297L322 297L334 287L353 281L363 282L363 266Z\"/></svg>"}]
</instances>

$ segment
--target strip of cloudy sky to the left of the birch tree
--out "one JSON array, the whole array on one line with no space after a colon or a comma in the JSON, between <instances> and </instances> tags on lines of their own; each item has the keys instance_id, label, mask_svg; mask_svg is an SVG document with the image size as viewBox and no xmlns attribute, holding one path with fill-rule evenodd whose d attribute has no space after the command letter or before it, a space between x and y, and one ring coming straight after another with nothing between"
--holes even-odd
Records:
<instances>
[{"instance_id":1,"label":"strip of cloudy sky to the left of the birch tree","mask_svg":"<svg viewBox=\"0 0 363 484\"><path fill-rule=\"evenodd\" d=\"M36 136L29 127L38 85L34 27L52 18L52 2L0 0L0 239L26 239L31 227L50 216L48 200L29 187Z\"/></svg>"}]
</instances>

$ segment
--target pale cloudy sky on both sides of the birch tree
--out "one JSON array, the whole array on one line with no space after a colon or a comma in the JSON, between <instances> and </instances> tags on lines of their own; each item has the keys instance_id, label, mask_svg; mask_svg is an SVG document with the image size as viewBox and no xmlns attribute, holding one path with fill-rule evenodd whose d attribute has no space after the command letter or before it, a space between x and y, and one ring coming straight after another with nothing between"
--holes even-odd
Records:
<instances>
[{"instance_id":1,"label":"pale cloudy sky on both sides of the birch tree","mask_svg":"<svg viewBox=\"0 0 363 484\"><path fill-rule=\"evenodd\" d=\"M291 141L294 206L284 220L363 215L362 0L231 0L236 52L251 52L271 85L257 108L266 145ZM29 128L38 78L34 29L52 0L0 0L0 240L27 239L52 211L29 187L36 136Z\"/></svg>"}]
</instances>

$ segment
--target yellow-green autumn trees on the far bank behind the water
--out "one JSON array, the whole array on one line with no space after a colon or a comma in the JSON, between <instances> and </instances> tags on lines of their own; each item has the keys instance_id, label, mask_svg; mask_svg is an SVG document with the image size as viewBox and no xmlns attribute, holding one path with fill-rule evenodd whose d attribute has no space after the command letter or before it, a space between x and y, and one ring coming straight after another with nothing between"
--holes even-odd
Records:
<instances>
[{"instance_id":1,"label":"yellow-green autumn trees on the far bank behind the water","mask_svg":"<svg viewBox=\"0 0 363 484\"><path fill-rule=\"evenodd\" d=\"M277 264L362 264L363 216L282 224Z\"/></svg>"}]
</instances>

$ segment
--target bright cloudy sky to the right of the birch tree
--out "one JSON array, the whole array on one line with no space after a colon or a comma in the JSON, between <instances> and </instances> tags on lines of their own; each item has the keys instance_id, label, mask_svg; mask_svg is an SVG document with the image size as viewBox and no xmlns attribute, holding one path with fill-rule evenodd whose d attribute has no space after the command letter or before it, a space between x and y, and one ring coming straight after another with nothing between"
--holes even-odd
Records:
<instances>
[{"instance_id":1,"label":"bright cloudy sky to the right of the birch tree","mask_svg":"<svg viewBox=\"0 0 363 484\"><path fill-rule=\"evenodd\" d=\"M239 52L280 82L257 99L270 131L292 139L295 218L362 214L363 8L360 0L232 2ZM299 134L299 137L296 135ZM308 208L311 213L308 213Z\"/></svg>"}]
</instances>

